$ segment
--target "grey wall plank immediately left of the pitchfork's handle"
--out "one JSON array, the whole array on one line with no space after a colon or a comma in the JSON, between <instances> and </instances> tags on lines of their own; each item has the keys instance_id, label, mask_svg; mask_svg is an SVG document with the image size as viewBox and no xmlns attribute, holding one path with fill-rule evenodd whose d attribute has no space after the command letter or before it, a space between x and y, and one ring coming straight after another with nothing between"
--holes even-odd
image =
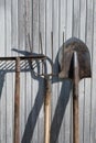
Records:
<instances>
[{"instance_id":1,"label":"grey wall plank immediately left of the pitchfork's handle","mask_svg":"<svg viewBox=\"0 0 96 143\"><path fill-rule=\"evenodd\" d=\"M42 46L43 54L45 54L45 0L40 0L40 2L39 2L39 31L41 33L41 40L42 40L42 45L41 45L40 37L39 37L39 44L40 44L39 47ZM40 53L41 53L41 50L40 50ZM41 107L40 106L39 107L41 109L40 109L39 121L38 121L38 139L39 139L40 143L44 142L44 100L43 100L44 99L44 88L45 88L44 84L45 84L44 79L41 78L40 85L42 86L43 91L40 94ZM41 132L41 130L42 130L42 132Z\"/></svg>"}]
</instances>

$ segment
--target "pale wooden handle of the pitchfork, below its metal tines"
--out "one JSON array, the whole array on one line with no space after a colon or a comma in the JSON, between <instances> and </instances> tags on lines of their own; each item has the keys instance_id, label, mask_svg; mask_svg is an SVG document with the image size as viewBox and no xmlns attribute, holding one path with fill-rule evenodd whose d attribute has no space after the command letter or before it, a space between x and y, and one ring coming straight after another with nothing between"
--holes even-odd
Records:
<instances>
[{"instance_id":1,"label":"pale wooden handle of the pitchfork, below its metal tines","mask_svg":"<svg viewBox=\"0 0 96 143\"><path fill-rule=\"evenodd\" d=\"M45 78L44 143L50 143L50 125L51 125L51 80Z\"/></svg>"}]
</instances>

